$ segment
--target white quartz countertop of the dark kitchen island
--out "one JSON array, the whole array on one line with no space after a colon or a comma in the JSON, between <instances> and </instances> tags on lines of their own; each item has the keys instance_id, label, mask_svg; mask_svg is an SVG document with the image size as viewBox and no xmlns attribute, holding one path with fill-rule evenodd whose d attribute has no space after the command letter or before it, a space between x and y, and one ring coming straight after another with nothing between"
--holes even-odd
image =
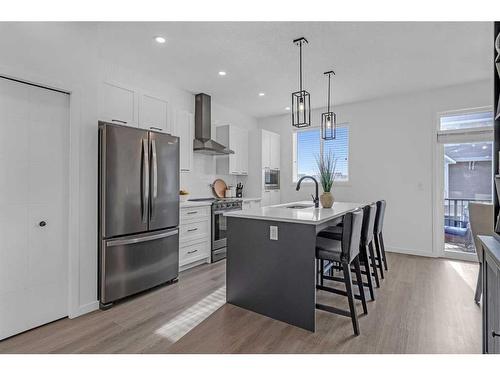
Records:
<instances>
[{"instance_id":1,"label":"white quartz countertop of the dark kitchen island","mask_svg":"<svg viewBox=\"0 0 500 375\"><path fill-rule=\"evenodd\" d=\"M293 205L310 205L311 207L287 208ZM311 201L301 201L243 211L228 211L224 213L224 216L317 225L341 217L347 212L363 206L363 203L335 202L332 208L314 208Z\"/></svg>"}]
</instances>

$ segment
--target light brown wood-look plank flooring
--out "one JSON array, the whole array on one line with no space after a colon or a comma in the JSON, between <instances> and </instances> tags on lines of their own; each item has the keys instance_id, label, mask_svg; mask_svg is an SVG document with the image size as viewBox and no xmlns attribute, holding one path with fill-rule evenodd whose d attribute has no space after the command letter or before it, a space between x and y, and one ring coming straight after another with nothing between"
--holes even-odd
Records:
<instances>
[{"instance_id":1,"label":"light brown wood-look plank flooring","mask_svg":"<svg viewBox=\"0 0 500 375\"><path fill-rule=\"evenodd\" d=\"M76 319L0 342L0 353L480 353L474 263L388 253L376 301L351 321L317 310L311 333L225 304L225 262L181 273L179 282ZM347 308L342 296L322 303Z\"/></svg>"}]
</instances>

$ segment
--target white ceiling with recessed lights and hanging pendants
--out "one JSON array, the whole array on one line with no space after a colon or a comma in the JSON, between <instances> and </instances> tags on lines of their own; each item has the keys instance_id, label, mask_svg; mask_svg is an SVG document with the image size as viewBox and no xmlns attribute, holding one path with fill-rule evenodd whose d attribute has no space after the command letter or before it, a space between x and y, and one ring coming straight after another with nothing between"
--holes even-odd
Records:
<instances>
[{"instance_id":1,"label":"white ceiling with recessed lights and hanging pendants","mask_svg":"<svg viewBox=\"0 0 500 375\"><path fill-rule=\"evenodd\" d=\"M103 22L89 31L105 60L139 69L217 103L262 117L285 113L298 89L298 47L305 36L304 88L326 104L333 69L337 104L491 79L491 22ZM60 33L58 33L60 35ZM164 36L167 43L153 41ZM37 36L40 38L40 36ZM47 33L47 37L55 37ZM227 72L225 77L217 73ZM265 92L259 97L259 92Z\"/></svg>"}]
</instances>

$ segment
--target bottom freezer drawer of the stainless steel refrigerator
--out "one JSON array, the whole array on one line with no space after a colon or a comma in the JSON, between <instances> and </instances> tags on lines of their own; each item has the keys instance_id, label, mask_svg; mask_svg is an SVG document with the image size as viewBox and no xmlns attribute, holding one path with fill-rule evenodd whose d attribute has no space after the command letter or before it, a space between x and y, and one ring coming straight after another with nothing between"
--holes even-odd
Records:
<instances>
[{"instance_id":1,"label":"bottom freezer drawer of the stainless steel refrigerator","mask_svg":"<svg viewBox=\"0 0 500 375\"><path fill-rule=\"evenodd\" d=\"M103 240L100 248L101 305L177 278L179 230Z\"/></svg>"}]
</instances>

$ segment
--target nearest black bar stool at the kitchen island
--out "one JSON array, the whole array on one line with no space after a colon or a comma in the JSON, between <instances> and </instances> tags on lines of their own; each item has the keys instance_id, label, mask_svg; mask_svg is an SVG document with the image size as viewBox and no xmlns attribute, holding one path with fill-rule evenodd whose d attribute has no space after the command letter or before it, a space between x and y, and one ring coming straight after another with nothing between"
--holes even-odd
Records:
<instances>
[{"instance_id":1,"label":"nearest black bar stool at the kitchen island","mask_svg":"<svg viewBox=\"0 0 500 375\"><path fill-rule=\"evenodd\" d=\"M339 314L347 317L350 316L355 335L359 335L358 315L356 313L356 306L354 303L355 298L361 300L361 303L363 305L363 312L365 314L368 313L368 310L366 308L366 298L363 287L363 280L361 278L361 268L359 266L359 245L360 245L362 224L363 224L363 211L356 210L354 212L349 212L344 216L344 225L343 225L341 241L321 236L316 237L316 258L319 259L320 263L320 278L319 278L320 280L319 280L319 285L316 285L316 288L330 293L347 296L347 299L349 301L349 311L319 303L316 304L316 308L334 314ZM325 260L330 262L338 262L341 264L343 270L342 280L346 287L345 291L341 289L327 287L324 285L324 279L327 280L340 279L324 275ZM354 266L354 270L356 272L359 295L354 295L352 290L351 264Z\"/></svg>"}]
</instances>

